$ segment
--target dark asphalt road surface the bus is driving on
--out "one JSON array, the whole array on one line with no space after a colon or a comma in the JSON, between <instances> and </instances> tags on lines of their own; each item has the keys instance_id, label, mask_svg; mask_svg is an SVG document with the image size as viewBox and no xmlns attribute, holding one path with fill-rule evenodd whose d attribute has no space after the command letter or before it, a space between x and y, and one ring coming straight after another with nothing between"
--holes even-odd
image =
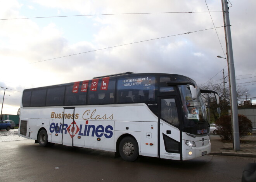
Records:
<instances>
[{"instance_id":1,"label":"dark asphalt road surface the bus is driving on","mask_svg":"<svg viewBox=\"0 0 256 182\"><path fill-rule=\"evenodd\" d=\"M112 152L43 148L33 140L0 142L0 154L1 182L240 182L244 167L256 160L206 155L183 162L151 157L125 162Z\"/></svg>"}]
</instances>

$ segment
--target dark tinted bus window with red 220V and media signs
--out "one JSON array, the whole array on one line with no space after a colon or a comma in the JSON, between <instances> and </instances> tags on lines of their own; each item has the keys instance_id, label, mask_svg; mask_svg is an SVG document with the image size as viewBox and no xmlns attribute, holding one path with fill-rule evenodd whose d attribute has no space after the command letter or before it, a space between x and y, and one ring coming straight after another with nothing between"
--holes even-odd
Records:
<instances>
[{"instance_id":1,"label":"dark tinted bus window with red 220V and media signs","mask_svg":"<svg viewBox=\"0 0 256 182\"><path fill-rule=\"evenodd\" d=\"M78 87L78 90L76 90ZM65 105L85 105L88 82L66 86ZM86 88L86 89L85 89Z\"/></svg>"}]
</instances>

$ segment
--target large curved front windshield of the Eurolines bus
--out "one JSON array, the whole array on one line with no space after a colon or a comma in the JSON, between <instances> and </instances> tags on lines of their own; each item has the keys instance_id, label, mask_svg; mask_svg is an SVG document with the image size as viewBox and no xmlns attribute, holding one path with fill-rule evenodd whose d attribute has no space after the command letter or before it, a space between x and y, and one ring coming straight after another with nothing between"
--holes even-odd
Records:
<instances>
[{"instance_id":1,"label":"large curved front windshield of the Eurolines bus","mask_svg":"<svg viewBox=\"0 0 256 182\"><path fill-rule=\"evenodd\" d=\"M188 85L178 86L184 112L184 128L200 128L207 124L206 107L200 90L197 88L197 99L192 99Z\"/></svg>"}]
</instances>

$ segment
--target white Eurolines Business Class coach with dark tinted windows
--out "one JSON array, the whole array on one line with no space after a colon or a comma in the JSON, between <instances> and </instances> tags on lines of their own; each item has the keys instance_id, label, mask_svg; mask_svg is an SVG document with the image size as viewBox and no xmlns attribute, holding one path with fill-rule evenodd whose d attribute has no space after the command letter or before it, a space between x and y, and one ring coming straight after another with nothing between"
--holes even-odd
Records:
<instances>
[{"instance_id":1,"label":"white Eurolines Business Class coach with dark tinted windows","mask_svg":"<svg viewBox=\"0 0 256 182\"><path fill-rule=\"evenodd\" d=\"M211 151L202 92L213 91L182 75L132 72L26 89L19 136L130 162L138 155L189 160Z\"/></svg>"}]
</instances>

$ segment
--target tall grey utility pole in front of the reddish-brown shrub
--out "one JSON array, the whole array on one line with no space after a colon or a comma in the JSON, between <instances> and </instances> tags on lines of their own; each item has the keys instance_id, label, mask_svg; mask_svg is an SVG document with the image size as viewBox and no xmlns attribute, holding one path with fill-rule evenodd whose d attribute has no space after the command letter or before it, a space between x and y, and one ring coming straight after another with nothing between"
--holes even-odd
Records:
<instances>
[{"instance_id":1,"label":"tall grey utility pole in front of the reddish-brown shrub","mask_svg":"<svg viewBox=\"0 0 256 182\"><path fill-rule=\"evenodd\" d=\"M227 47L227 56L228 56L228 68L229 68L229 78L230 78L230 101L231 101L231 119L233 124L233 146L234 151L240 150L240 140L239 140L239 125L238 125L238 112L237 112L237 90L235 84L235 65L233 58L233 49L232 49L232 39L231 39L231 30L229 22L229 12L228 12L228 2L227 0L221 0L222 2L222 11L223 11L223 20L224 20L224 29L226 37L226 47Z\"/></svg>"}]
</instances>

